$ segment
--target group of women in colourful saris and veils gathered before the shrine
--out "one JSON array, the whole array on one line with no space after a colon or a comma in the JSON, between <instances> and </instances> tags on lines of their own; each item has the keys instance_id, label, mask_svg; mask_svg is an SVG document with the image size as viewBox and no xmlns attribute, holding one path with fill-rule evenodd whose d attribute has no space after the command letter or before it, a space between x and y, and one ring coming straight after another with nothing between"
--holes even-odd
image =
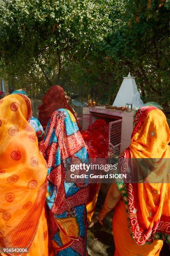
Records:
<instances>
[{"instance_id":1,"label":"group of women in colourful saris and veils gathered before the shrine","mask_svg":"<svg viewBox=\"0 0 170 256\"><path fill-rule=\"evenodd\" d=\"M85 256L100 184L67 183L65 175L71 164L108 157L107 123L97 120L81 131L60 86L48 90L39 111L45 137L38 144L27 95L20 90L0 100L0 247L26 248L23 255L29 256ZM125 172L130 158L169 159L169 142L163 112L140 108L119 171ZM168 160L154 166L159 183L117 179L107 193L98 220L103 225L115 208L116 256L157 256L163 241L170 243L170 166Z\"/></svg>"}]
</instances>

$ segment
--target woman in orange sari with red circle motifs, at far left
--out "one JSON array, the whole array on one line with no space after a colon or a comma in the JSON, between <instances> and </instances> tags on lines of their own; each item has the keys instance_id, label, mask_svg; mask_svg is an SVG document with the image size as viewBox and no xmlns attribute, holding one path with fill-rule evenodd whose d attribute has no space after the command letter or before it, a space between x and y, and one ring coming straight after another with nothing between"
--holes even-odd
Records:
<instances>
[{"instance_id":1,"label":"woman in orange sari with red circle motifs, at far left","mask_svg":"<svg viewBox=\"0 0 170 256\"><path fill-rule=\"evenodd\" d=\"M0 247L25 248L15 255L53 255L48 251L45 217L47 167L37 136L28 123L31 102L25 95L0 100Z\"/></svg>"}]
</instances>

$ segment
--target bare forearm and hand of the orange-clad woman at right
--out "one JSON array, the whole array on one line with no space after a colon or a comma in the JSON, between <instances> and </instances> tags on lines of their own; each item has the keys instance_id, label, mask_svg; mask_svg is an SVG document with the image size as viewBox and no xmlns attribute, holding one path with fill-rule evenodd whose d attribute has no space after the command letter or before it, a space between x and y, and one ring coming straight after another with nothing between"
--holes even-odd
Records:
<instances>
[{"instance_id":1,"label":"bare forearm and hand of the orange-clad woman at right","mask_svg":"<svg viewBox=\"0 0 170 256\"><path fill-rule=\"evenodd\" d=\"M114 183L110 186L102 210L99 212L99 222L101 225L103 225L103 219L106 217L107 213L117 205L120 198L121 194L117 188L117 185Z\"/></svg>"}]
</instances>

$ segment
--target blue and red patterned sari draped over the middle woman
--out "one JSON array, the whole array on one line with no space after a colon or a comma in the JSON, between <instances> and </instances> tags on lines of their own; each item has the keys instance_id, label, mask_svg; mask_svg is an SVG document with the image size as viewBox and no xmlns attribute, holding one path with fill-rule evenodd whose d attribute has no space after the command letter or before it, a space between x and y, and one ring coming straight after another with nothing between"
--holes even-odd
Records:
<instances>
[{"instance_id":1,"label":"blue and red patterned sari draped over the middle woman","mask_svg":"<svg viewBox=\"0 0 170 256\"><path fill-rule=\"evenodd\" d=\"M85 142L74 115L67 109L55 111L47 125L40 151L47 161L47 206L50 236L55 255L86 255L87 181L66 183L71 164L88 161Z\"/></svg>"}]
</instances>

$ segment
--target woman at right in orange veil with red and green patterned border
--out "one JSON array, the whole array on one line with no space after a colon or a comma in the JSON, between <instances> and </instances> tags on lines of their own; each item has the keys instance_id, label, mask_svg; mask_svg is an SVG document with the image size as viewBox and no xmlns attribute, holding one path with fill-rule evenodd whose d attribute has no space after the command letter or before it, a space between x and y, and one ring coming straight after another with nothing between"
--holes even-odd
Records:
<instances>
[{"instance_id":1,"label":"woman at right in orange veil with red and green patterned border","mask_svg":"<svg viewBox=\"0 0 170 256\"><path fill-rule=\"evenodd\" d=\"M158 256L163 241L170 243L169 141L170 129L160 109L147 106L135 113L130 146L118 161L119 172L128 178L111 185L99 213L103 224L115 207L115 256ZM143 159L145 165L135 159ZM135 183L141 177L143 182Z\"/></svg>"}]
</instances>

